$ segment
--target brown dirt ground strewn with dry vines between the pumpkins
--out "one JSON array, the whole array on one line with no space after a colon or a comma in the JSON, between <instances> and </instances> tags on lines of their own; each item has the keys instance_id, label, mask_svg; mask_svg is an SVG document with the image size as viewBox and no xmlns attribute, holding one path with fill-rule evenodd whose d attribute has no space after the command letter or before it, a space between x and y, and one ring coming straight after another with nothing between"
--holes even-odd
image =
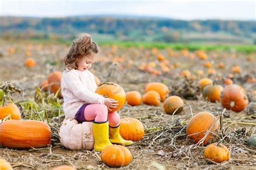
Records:
<instances>
[{"instance_id":1,"label":"brown dirt ground strewn with dry vines between the pumpkins","mask_svg":"<svg viewBox=\"0 0 256 170\"><path fill-rule=\"evenodd\" d=\"M2 48L0 82L11 81L23 91L21 95L15 95L15 101L33 98L35 86L39 86L42 81L46 80L52 70L63 70L63 58L68 51L66 45L29 44L26 41L0 41L0 45ZM16 52L14 54L8 53L9 47L14 47ZM24 67L24 61L28 58L25 51L31 51L31 57L37 63L36 67ZM242 72L234 75L233 81L245 89L250 102L256 101L255 94L252 94L252 91L256 90L256 84L246 82L248 76L255 78L255 54L254 61L247 61L248 54L244 53L215 52L218 56L214 58L214 52L209 52L207 53L208 59L202 61L198 58L188 59L184 56L169 57L167 50L161 49L159 51L165 55L171 64L178 62L180 67L172 69L169 74L157 76L137 69L142 62L154 61L158 64L156 57L151 54L151 49L118 48L114 53L111 51L113 51L113 47L103 46L99 56L104 60L99 60L92 68L102 82L116 82L125 91L137 90L143 95L147 82L164 82L171 90L170 95L178 95L177 89L186 84L186 80L179 74L181 70L188 69L192 74L196 74L197 70L201 69L204 70L204 76L206 76L207 68L203 66L203 63L210 61L213 68L217 70L217 74L213 77L227 76L231 73L233 66L239 65ZM174 51L174 53L179 54L178 51ZM235 53L234 58L231 57L232 53ZM115 56L123 58L125 62L113 64L112 61ZM105 61L105 58L108 60ZM125 63L130 59L133 60L133 65L128 69ZM225 68L215 67L219 62L225 63ZM120 69L120 65L124 68ZM194 83L197 84L198 80L195 80ZM208 102L200 93L191 100L185 99L183 94L180 96L184 99L184 103L191 105L193 114L205 110L214 112L223 109L220 103ZM172 115L165 114L162 105L163 102L158 107L145 104L131 107L125 104L119 110L122 118L137 118L143 123L145 129L155 126L161 127L158 131L145 133L141 141L127 146L132 153L132 162L129 166L121 169L256 169L255 148L246 145L246 139L250 130L253 131L253 125L235 123L235 121L242 121L255 124L255 118L248 116L248 111L236 113L227 110L225 112L224 129L226 129L226 135L230 140L224 144L229 147L231 158L221 164L209 164L203 157L204 146L196 146L189 139L186 139L184 130L175 133L170 132L170 126L174 125ZM184 120L190 116L190 107L185 106L182 112L173 116L173 120ZM55 127L58 128L61 124L61 118L57 118L57 120L58 123L55 124ZM227 121L231 121L231 123ZM242 130L242 128L246 129ZM70 151L58 141L53 142L52 146L48 148L37 151L11 150L0 147L0 159L8 160L15 169L52 169L58 165L73 165L78 169L109 168L100 160L99 154L95 151Z\"/></svg>"}]
</instances>

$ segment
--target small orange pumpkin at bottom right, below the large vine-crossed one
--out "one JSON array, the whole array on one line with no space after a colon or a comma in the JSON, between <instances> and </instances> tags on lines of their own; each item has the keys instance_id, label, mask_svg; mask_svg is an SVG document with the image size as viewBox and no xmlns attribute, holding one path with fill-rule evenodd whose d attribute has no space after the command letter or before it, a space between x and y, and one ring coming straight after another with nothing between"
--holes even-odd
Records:
<instances>
[{"instance_id":1,"label":"small orange pumpkin at bottom right, below the large vine-crossed one","mask_svg":"<svg viewBox=\"0 0 256 170\"><path fill-rule=\"evenodd\" d=\"M225 145L214 143L205 147L204 157L220 163L230 159L230 151Z\"/></svg>"}]
</instances>

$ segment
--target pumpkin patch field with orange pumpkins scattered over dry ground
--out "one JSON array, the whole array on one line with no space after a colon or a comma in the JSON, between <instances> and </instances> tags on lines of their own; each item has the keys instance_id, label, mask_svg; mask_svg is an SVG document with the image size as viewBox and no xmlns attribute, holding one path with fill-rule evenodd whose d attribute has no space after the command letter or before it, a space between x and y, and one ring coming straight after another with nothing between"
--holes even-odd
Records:
<instances>
[{"instance_id":1,"label":"pumpkin patch field with orange pumpkins scattered over dry ground","mask_svg":"<svg viewBox=\"0 0 256 170\"><path fill-rule=\"evenodd\" d=\"M119 101L133 143L97 152L92 123L63 112L68 50L0 41L0 169L256 167L255 51L100 45L96 93Z\"/></svg>"}]
</instances>

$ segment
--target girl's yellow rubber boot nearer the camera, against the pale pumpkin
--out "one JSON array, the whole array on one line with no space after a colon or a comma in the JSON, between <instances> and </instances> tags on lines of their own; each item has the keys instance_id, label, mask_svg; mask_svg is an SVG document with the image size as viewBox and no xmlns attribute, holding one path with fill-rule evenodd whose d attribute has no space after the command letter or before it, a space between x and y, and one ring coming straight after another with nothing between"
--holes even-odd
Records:
<instances>
[{"instance_id":1,"label":"girl's yellow rubber boot nearer the camera, against the pale pumpkin","mask_svg":"<svg viewBox=\"0 0 256 170\"><path fill-rule=\"evenodd\" d=\"M112 145L109 141L109 121L92 123L95 151L102 151L106 146Z\"/></svg>"}]
</instances>

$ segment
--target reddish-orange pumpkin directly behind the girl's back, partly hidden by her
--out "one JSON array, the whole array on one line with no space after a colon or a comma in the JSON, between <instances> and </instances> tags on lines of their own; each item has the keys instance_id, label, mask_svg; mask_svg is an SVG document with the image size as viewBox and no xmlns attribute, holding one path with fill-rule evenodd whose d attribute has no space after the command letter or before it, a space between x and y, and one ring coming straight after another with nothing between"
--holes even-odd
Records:
<instances>
[{"instance_id":1,"label":"reddish-orange pumpkin directly behind the girl's back, partly hidden by her","mask_svg":"<svg viewBox=\"0 0 256 170\"><path fill-rule=\"evenodd\" d=\"M51 93L56 93L60 88L60 81L62 80L62 72L56 71L48 76L48 82ZM61 91L58 93L58 97L62 97Z\"/></svg>"}]
</instances>

